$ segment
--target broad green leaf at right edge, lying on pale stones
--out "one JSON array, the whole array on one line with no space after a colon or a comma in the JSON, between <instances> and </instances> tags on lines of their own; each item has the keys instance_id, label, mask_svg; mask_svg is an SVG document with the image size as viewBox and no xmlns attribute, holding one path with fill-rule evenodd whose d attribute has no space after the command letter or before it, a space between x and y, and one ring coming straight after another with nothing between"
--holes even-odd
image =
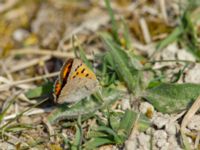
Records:
<instances>
[{"instance_id":1,"label":"broad green leaf at right edge, lying on pale stones","mask_svg":"<svg viewBox=\"0 0 200 150\"><path fill-rule=\"evenodd\" d=\"M174 113L186 109L200 95L200 85L192 83L162 83L147 89L143 97L163 113Z\"/></svg>"}]
</instances>

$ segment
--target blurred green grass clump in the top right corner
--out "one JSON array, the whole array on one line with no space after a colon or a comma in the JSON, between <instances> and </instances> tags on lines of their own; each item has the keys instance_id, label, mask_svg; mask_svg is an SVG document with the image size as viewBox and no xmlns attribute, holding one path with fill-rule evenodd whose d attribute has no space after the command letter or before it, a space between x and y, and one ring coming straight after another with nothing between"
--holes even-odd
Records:
<instances>
[{"instance_id":1,"label":"blurred green grass clump in the top right corner","mask_svg":"<svg viewBox=\"0 0 200 150\"><path fill-rule=\"evenodd\" d=\"M176 27L169 36L158 43L156 52L162 50L172 42L179 41L198 60L200 59L200 43L197 31L197 24L200 19L198 11L199 6L200 3L197 0L188 1L181 16L179 26Z\"/></svg>"}]
</instances>

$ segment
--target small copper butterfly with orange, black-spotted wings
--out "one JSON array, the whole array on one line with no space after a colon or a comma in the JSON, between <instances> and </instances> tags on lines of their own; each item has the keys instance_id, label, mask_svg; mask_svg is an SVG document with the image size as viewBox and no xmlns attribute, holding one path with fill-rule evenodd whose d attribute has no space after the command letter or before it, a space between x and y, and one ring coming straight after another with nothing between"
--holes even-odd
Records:
<instances>
[{"instance_id":1,"label":"small copper butterfly with orange, black-spotted wings","mask_svg":"<svg viewBox=\"0 0 200 150\"><path fill-rule=\"evenodd\" d=\"M80 59L69 59L55 81L54 101L59 104L77 102L98 89L96 75Z\"/></svg>"}]
</instances>

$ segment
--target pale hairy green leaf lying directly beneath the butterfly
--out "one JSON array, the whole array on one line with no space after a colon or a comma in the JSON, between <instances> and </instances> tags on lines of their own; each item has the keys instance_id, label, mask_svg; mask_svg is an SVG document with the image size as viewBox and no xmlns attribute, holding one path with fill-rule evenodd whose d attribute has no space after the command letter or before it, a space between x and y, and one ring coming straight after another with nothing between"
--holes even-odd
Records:
<instances>
[{"instance_id":1,"label":"pale hairy green leaf lying directly beneath the butterfly","mask_svg":"<svg viewBox=\"0 0 200 150\"><path fill-rule=\"evenodd\" d=\"M115 102L120 97L120 92L112 88L105 88L102 90L102 97L104 100L102 103L99 103L100 100L97 100L98 97L92 96L89 99L73 104L71 107L62 104L51 112L48 116L48 121L54 124L59 120L77 118L79 115L82 115L83 118L89 114L94 115L95 111Z\"/></svg>"}]
</instances>

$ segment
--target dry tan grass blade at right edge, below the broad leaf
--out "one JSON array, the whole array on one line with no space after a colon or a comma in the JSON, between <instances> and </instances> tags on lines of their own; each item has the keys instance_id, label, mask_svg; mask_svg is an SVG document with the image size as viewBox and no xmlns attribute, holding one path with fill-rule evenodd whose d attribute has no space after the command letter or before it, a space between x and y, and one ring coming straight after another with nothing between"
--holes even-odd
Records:
<instances>
[{"instance_id":1,"label":"dry tan grass blade at right edge, below the broad leaf","mask_svg":"<svg viewBox=\"0 0 200 150\"><path fill-rule=\"evenodd\" d=\"M194 114L199 110L199 108L200 108L200 96L197 98L197 100L193 103L193 105L190 107L190 109L184 116L183 121L181 123L181 132L184 133L187 124L191 120L192 116L194 116Z\"/></svg>"}]
</instances>

